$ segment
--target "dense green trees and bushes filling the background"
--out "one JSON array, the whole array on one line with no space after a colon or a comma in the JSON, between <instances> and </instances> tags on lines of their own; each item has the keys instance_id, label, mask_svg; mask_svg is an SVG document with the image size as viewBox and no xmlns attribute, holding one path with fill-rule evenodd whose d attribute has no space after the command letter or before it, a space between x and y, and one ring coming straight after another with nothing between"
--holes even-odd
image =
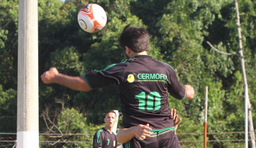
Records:
<instances>
[{"instance_id":1,"label":"dense green trees and bushes filling the background","mask_svg":"<svg viewBox=\"0 0 256 148\"><path fill-rule=\"evenodd\" d=\"M78 10L87 3L98 3L107 12L108 22L99 33L86 33L78 25ZM60 0L39 0L38 6L38 77L50 67L57 67L67 75L82 76L91 69L102 69L123 60L118 34L127 24L142 26L150 33L149 54L174 67L182 84L191 84L195 88L193 100L169 98L170 107L177 109L182 117L178 133L204 131L205 86L208 86L208 132L244 130L244 84L240 59L238 56L219 54L206 43L210 41L223 52L238 52L236 7L233 0L71 0L65 3ZM239 10L249 97L254 109L256 1L239 1ZM0 132L16 132L16 118L6 117L16 116L17 14L18 0L1 1ZM116 86L78 92L39 81L39 114L42 115L39 118L40 131L52 132L44 121L44 115L61 115L57 119L47 120L54 121L51 126L59 128L51 129L54 132L95 132L99 127L93 125L102 126L105 111L121 111L120 108ZM71 121L69 115L72 113L72 117L79 121ZM255 113L253 119L256 125ZM70 127L67 127L67 120ZM228 139L214 134L208 137L211 140ZM83 140L90 138L84 137ZM179 138L180 141L203 140L202 136L190 134ZM231 142L219 142L218 145L244 146ZM88 145L76 145L79 146ZM182 147L202 147L202 143L182 143Z\"/></svg>"}]
</instances>

